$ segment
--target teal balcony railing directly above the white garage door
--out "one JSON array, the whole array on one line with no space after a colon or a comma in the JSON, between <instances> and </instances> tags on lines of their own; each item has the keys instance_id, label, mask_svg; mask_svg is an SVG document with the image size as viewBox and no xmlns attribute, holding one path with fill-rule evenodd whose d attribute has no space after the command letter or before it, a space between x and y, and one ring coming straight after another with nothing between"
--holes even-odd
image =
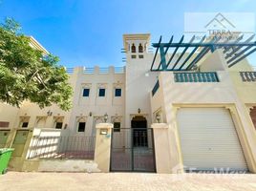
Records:
<instances>
[{"instance_id":1,"label":"teal balcony railing directly above the white garage door","mask_svg":"<svg viewBox=\"0 0 256 191\"><path fill-rule=\"evenodd\" d=\"M219 82L217 73L174 73L175 82Z\"/></svg>"}]
</instances>

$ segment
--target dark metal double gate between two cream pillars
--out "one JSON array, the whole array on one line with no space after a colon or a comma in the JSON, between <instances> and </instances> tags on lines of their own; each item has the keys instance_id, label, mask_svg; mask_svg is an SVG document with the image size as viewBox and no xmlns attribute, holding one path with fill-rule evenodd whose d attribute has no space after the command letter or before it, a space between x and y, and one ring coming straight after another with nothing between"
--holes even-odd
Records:
<instances>
[{"instance_id":1,"label":"dark metal double gate between two cream pillars","mask_svg":"<svg viewBox=\"0 0 256 191\"><path fill-rule=\"evenodd\" d=\"M111 171L156 172L153 129L120 128L112 131Z\"/></svg>"}]
</instances>

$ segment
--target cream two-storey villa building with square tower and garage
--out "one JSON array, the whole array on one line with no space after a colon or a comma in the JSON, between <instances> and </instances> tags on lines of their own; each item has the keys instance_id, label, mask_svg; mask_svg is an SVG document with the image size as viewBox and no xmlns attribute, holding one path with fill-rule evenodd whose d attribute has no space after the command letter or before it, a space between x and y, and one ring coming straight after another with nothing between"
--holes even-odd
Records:
<instances>
[{"instance_id":1,"label":"cream two-storey villa building with square tower and garage","mask_svg":"<svg viewBox=\"0 0 256 191\"><path fill-rule=\"evenodd\" d=\"M31 102L19 109L2 103L0 146L8 144L10 129L36 129L29 143L29 131L12 137L13 158L58 159L58 153L61 159L93 161L96 124L108 122L114 124L111 171L224 168L255 173L256 72L235 54L234 45L211 49L197 44L193 54L178 53L181 42L171 41L153 44L160 51L155 54L149 51L150 34L124 34L125 67L67 68L74 89L70 112L56 106L39 109ZM48 53L33 38L32 44ZM175 48L173 54L169 48ZM23 154L25 144L28 153Z\"/></svg>"}]
</instances>

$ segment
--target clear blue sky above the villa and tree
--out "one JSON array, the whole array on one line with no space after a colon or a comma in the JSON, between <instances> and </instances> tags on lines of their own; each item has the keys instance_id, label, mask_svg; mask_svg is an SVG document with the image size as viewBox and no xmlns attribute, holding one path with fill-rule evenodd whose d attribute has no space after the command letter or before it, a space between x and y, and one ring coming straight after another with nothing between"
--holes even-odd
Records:
<instances>
[{"instance_id":1,"label":"clear blue sky above the villa and tree","mask_svg":"<svg viewBox=\"0 0 256 191\"><path fill-rule=\"evenodd\" d=\"M0 0L0 22L12 17L60 64L123 66L122 34L151 33L176 41L184 31L185 12L252 12L255 0ZM256 65L256 53L250 60Z\"/></svg>"}]
</instances>

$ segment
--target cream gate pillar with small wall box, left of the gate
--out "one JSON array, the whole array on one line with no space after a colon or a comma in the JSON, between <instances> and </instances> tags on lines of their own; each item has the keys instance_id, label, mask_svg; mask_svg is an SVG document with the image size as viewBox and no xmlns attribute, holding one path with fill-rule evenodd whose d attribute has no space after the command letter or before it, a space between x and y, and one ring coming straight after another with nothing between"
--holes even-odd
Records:
<instances>
[{"instance_id":1,"label":"cream gate pillar with small wall box, left of the gate","mask_svg":"<svg viewBox=\"0 0 256 191\"><path fill-rule=\"evenodd\" d=\"M105 173L110 170L112 128L112 123L96 124L95 161L97 163L97 168Z\"/></svg>"}]
</instances>

